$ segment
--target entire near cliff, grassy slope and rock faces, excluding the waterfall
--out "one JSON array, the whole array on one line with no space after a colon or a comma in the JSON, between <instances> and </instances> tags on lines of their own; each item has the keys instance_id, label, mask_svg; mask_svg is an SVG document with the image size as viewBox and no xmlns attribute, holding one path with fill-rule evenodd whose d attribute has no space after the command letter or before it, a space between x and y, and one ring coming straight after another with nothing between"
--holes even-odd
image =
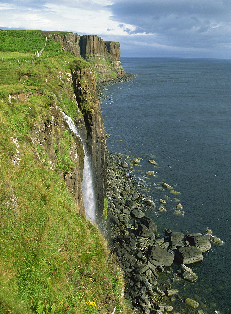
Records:
<instances>
[{"instance_id":1,"label":"entire near cliff, grassy slope and rock faces, excluding the waterfall","mask_svg":"<svg viewBox=\"0 0 231 314\"><path fill-rule=\"evenodd\" d=\"M78 36L66 36L78 53ZM82 314L90 304L113 313L124 306L123 283L101 233L85 218L81 186L86 144L103 225L107 164L96 79L89 63L56 41L48 38L33 64L23 54L18 63L19 52L11 61L6 54L0 70L0 305L12 314L51 306Z\"/></svg>"}]
</instances>

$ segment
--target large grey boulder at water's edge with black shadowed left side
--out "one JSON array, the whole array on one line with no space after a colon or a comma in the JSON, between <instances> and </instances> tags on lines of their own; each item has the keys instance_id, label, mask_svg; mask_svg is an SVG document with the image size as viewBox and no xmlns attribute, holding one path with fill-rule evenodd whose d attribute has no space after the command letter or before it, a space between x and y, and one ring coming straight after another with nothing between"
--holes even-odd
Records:
<instances>
[{"instance_id":1,"label":"large grey boulder at water's edge with black shadowed left side","mask_svg":"<svg viewBox=\"0 0 231 314\"><path fill-rule=\"evenodd\" d=\"M195 247L180 247L175 252L175 259L180 264L191 264L203 260L201 251Z\"/></svg>"}]
</instances>

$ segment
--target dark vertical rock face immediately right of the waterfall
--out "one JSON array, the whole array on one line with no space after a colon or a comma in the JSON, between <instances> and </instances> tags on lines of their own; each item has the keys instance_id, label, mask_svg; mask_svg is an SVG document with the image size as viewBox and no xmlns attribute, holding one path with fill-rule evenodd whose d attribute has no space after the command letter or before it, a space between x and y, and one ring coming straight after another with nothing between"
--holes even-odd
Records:
<instances>
[{"instance_id":1,"label":"dark vertical rock face immediately right of the waterfall","mask_svg":"<svg viewBox=\"0 0 231 314\"><path fill-rule=\"evenodd\" d=\"M80 68L77 62L72 66L72 79L76 101L84 117L85 128L79 127L79 129L82 131L82 138L91 156L98 204L96 214L98 223L101 225L107 189L107 156L102 111L96 94L96 79L91 68ZM80 121L76 123L79 126L82 125Z\"/></svg>"}]
</instances>

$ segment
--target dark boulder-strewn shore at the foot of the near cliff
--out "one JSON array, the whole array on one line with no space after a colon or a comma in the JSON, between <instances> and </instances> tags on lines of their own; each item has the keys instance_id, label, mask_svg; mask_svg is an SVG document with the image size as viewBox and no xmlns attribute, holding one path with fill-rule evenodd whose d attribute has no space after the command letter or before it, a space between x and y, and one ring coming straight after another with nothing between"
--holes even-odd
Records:
<instances>
[{"instance_id":1,"label":"dark boulder-strewn shore at the foot of the near cliff","mask_svg":"<svg viewBox=\"0 0 231 314\"><path fill-rule=\"evenodd\" d=\"M157 225L145 215L146 210L155 211L155 203L147 197L147 187L130 174L129 156L124 161L120 153L107 156L109 247L122 269L128 305L143 314L204 313L199 302L190 295L181 297L180 291L186 282L196 281L185 264L203 260L210 235L166 229L157 236ZM163 187L168 188L164 182Z\"/></svg>"}]
</instances>

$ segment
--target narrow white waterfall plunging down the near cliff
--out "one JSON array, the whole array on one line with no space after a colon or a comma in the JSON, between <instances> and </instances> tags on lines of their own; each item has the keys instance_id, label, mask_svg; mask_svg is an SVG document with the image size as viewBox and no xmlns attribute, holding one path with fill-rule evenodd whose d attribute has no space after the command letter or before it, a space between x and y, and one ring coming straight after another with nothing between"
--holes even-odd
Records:
<instances>
[{"instance_id":1,"label":"narrow white waterfall plunging down the near cliff","mask_svg":"<svg viewBox=\"0 0 231 314\"><path fill-rule=\"evenodd\" d=\"M70 130L77 135L81 142L83 143L84 150L84 166L83 166L83 181L81 183L82 193L83 193L83 203L85 208L86 218L91 221L94 225L96 225L96 203L95 203L95 192L93 185L93 176L91 170L91 162L90 157L87 152L86 143L84 143L81 138L74 121L63 112L63 116L65 121L67 122Z\"/></svg>"}]
</instances>

